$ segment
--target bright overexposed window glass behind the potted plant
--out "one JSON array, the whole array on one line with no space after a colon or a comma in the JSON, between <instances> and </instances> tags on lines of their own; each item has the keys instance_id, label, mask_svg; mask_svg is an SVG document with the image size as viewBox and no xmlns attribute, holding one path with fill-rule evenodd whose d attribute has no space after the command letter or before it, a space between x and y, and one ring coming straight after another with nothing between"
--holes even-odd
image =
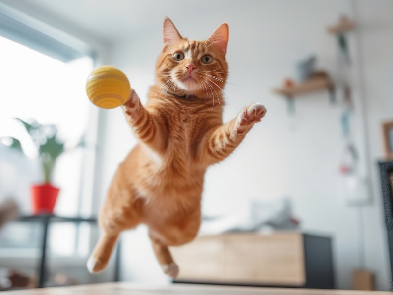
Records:
<instances>
[{"instance_id":1,"label":"bright overexposed window glass behind the potted plant","mask_svg":"<svg viewBox=\"0 0 393 295\"><path fill-rule=\"evenodd\" d=\"M91 118L92 106L85 94L85 81L92 67L89 56L63 62L0 36L0 137L19 139L26 154L16 155L0 145L0 201L15 198L22 213L29 214L29 187L42 181L36 147L14 118L34 118L42 124L55 124L66 147L74 146L86 132ZM58 215L80 213L85 154L86 150L75 149L58 158L53 179L60 188L55 208ZM51 231L50 247L55 254L75 252L77 227L74 224L55 224ZM0 247L37 246L38 232L39 228L27 224L10 224L0 231ZM37 237L38 241L34 240Z\"/></svg>"}]
</instances>

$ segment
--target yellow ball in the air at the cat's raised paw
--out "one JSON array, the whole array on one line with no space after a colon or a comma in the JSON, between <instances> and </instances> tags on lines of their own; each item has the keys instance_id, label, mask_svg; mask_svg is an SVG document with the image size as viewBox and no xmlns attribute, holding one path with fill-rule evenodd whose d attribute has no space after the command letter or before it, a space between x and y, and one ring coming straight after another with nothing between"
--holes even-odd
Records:
<instances>
[{"instance_id":1,"label":"yellow ball in the air at the cat's raised paw","mask_svg":"<svg viewBox=\"0 0 393 295\"><path fill-rule=\"evenodd\" d=\"M130 96L130 82L122 71L101 66L87 77L86 93L92 103L104 109L124 104Z\"/></svg>"}]
</instances>

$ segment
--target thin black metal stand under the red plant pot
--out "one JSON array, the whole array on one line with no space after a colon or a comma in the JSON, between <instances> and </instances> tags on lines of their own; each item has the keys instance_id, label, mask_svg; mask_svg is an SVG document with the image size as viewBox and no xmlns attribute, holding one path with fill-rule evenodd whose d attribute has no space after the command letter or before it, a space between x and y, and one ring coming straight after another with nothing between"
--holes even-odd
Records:
<instances>
[{"instance_id":1,"label":"thin black metal stand under the red plant pot","mask_svg":"<svg viewBox=\"0 0 393 295\"><path fill-rule=\"evenodd\" d=\"M81 223L81 222L89 222L93 224L97 224L96 218L80 218L80 217L60 217L56 215L31 215L31 216L22 216L18 219L20 222L37 222L41 223L43 226L43 235L42 235L42 243L41 243L41 259L40 263L37 267L37 272L39 274L38 287L44 287L46 282L47 275L47 266L46 266L46 258L47 258L47 240L48 240L48 227L50 223L54 222L73 222L73 223ZM119 251L117 251L117 256L119 255ZM116 267L114 280L118 280L118 257L116 257Z\"/></svg>"}]
</instances>

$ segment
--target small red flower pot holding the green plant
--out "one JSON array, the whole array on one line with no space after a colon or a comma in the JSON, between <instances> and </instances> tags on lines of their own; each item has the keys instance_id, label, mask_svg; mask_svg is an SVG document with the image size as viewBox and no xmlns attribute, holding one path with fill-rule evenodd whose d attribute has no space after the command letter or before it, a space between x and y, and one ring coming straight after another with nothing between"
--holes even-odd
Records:
<instances>
[{"instance_id":1,"label":"small red flower pot holding the green plant","mask_svg":"<svg viewBox=\"0 0 393 295\"><path fill-rule=\"evenodd\" d=\"M53 214L59 189L49 183L33 185L33 214Z\"/></svg>"}]
</instances>

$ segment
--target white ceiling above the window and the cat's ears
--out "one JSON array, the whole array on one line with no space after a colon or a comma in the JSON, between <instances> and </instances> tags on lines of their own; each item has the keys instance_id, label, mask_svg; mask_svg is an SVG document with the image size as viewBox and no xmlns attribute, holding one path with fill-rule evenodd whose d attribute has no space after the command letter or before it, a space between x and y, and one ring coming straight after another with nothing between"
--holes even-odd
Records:
<instances>
[{"instance_id":1,"label":"white ceiling above the window and the cat's ears","mask_svg":"<svg viewBox=\"0 0 393 295\"><path fill-rule=\"evenodd\" d=\"M200 17L220 14L226 6L250 4L235 0L0 0L53 26L101 42L161 28L165 16L196 23ZM175 22L176 23L176 22ZM217 26L219 21L215 21Z\"/></svg>"}]
</instances>

